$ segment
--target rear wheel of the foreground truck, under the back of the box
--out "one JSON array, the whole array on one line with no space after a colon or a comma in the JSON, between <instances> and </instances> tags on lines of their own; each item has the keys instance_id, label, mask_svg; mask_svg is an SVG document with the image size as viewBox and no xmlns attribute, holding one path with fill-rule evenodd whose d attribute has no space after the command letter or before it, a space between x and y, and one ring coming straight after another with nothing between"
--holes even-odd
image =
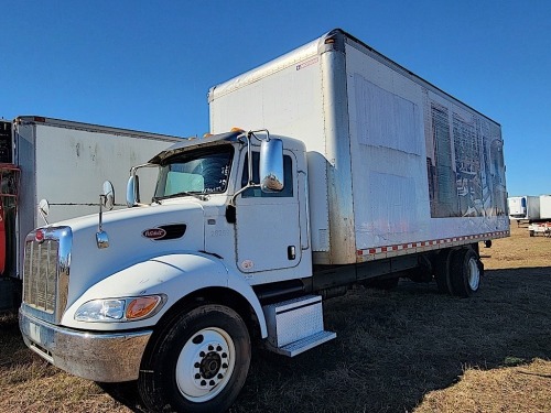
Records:
<instances>
[{"instance_id":1,"label":"rear wheel of the foreground truck, under the back of the box","mask_svg":"<svg viewBox=\"0 0 551 413\"><path fill-rule=\"evenodd\" d=\"M471 248L457 250L452 258L451 281L454 295L468 297L480 286L484 265Z\"/></svg>"}]
</instances>

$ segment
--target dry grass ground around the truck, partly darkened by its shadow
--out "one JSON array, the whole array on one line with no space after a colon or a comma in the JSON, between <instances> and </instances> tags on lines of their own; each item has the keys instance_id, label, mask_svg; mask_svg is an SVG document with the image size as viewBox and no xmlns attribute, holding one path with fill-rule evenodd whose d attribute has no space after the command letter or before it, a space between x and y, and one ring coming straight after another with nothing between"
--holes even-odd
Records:
<instances>
[{"instance_id":1,"label":"dry grass ground around the truck, partly darkened by its shadow","mask_svg":"<svg viewBox=\"0 0 551 413\"><path fill-rule=\"evenodd\" d=\"M402 281L325 304L337 339L294 359L255 350L241 412L551 412L551 239L526 228L482 249L474 297ZM134 387L99 387L28 350L0 318L0 412L141 412Z\"/></svg>"}]
</instances>

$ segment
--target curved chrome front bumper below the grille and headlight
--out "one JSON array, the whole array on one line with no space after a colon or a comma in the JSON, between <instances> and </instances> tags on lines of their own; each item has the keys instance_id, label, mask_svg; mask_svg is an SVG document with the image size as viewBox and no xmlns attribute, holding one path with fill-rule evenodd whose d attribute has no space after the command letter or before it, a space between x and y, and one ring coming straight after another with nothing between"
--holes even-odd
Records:
<instances>
[{"instance_id":1,"label":"curved chrome front bumper below the grille and headlight","mask_svg":"<svg viewBox=\"0 0 551 413\"><path fill-rule=\"evenodd\" d=\"M19 311L26 346L72 374L100 382L138 379L152 330L132 333L79 332L45 323Z\"/></svg>"}]
</instances>

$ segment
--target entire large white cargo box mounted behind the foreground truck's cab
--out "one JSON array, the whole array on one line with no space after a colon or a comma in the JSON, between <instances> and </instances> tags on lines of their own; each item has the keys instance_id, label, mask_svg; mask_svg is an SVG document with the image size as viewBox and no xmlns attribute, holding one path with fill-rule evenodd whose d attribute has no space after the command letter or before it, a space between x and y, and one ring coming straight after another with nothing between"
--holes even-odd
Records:
<instances>
[{"instance_id":1,"label":"entire large white cargo box mounted behind the foreground truck's cab","mask_svg":"<svg viewBox=\"0 0 551 413\"><path fill-rule=\"evenodd\" d=\"M214 133L307 148L314 262L507 236L500 126L335 30L209 91Z\"/></svg>"}]
</instances>

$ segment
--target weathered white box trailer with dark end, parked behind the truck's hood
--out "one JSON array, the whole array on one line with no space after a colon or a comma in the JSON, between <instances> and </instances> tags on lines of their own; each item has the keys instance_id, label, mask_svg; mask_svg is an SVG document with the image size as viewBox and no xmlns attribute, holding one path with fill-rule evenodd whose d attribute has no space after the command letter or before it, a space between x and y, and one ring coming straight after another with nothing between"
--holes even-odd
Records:
<instances>
[{"instance_id":1,"label":"weathered white box trailer with dark end, parked behind the truck's hood","mask_svg":"<svg viewBox=\"0 0 551 413\"><path fill-rule=\"evenodd\" d=\"M1 120L0 309L21 301L24 239L45 224L39 217L41 199L50 203L50 221L97 213L98 185L111 176L126 191L130 169L176 139L36 116ZM144 175L144 189L155 178Z\"/></svg>"}]
</instances>

